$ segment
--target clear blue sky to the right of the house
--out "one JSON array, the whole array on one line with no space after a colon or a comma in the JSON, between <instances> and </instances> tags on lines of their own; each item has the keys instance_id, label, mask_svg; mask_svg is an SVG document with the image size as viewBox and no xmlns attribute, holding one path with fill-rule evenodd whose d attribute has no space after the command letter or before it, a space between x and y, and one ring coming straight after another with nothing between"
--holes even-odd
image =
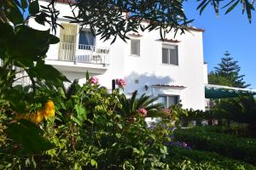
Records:
<instances>
[{"instance_id":1,"label":"clear blue sky to the right of the house","mask_svg":"<svg viewBox=\"0 0 256 170\"><path fill-rule=\"evenodd\" d=\"M237 6L230 14L220 11L218 17L211 5L199 14L197 1L183 3L189 19L195 19L193 26L205 29L203 33L204 59L208 64L208 72L214 70L224 51L228 50L238 65L245 81L256 89L256 12L250 24L246 14L241 14L241 6Z\"/></svg>"}]
</instances>

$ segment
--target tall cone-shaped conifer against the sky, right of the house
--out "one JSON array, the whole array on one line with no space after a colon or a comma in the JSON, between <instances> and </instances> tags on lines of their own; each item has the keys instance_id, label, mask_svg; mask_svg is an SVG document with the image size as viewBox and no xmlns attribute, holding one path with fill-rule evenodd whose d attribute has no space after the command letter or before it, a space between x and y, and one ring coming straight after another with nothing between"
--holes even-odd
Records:
<instances>
[{"instance_id":1,"label":"tall cone-shaped conifer against the sky, right of the house","mask_svg":"<svg viewBox=\"0 0 256 170\"><path fill-rule=\"evenodd\" d=\"M250 86L250 84L246 84L246 82L243 81L245 75L240 75L241 67L237 63L238 61L230 57L228 51L224 53L224 58L221 59L221 63L219 63L217 67L214 67L215 73L213 73L213 75L218 77L217 79L220 81L218 84L223 85L225 83L225 85L231 85L235 88L247 88ZM214 81L214 76L211 78L213 79L211 79L211 81Z\"/></svg>"}]
</instances>

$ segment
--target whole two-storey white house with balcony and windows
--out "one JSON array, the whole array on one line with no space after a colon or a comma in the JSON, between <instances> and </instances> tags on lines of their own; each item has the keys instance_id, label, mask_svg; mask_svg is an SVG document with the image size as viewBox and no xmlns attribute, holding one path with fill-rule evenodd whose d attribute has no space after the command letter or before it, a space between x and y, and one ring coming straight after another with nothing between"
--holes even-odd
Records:
<instances>
[{"instance_id":1,"label":"whole two-storey white house with balcony and windows","mask_svg":"<svg viewBox=\"0 0 256 170\"><path fill-rule=\"evenodd\" d=\"M48 3L41 0L40 4ZM84 72L99 78L102 86L112 88L112 80L127 82L124 93L159 96L166 107L181 102L184 108L205 109L205 69L203 61L203 30L190 28L186 34L166 36L160 40L159 31L144 31L128 36L127 43L117 39L112 45L102 42L88 29L69 24L63 16L72 15L67 3L57 3L60 10L56 36L61 42L49 48L45 62L55 66L68 79L81 79ZM29 20L29 26L46 30L48 26Z\"/></svg>"}]
</instances>

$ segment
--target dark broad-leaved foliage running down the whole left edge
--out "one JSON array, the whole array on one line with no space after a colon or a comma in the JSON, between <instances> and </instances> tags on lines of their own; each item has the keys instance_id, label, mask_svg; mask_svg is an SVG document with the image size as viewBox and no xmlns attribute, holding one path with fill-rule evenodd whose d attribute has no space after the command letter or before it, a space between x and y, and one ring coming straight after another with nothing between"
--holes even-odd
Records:
<instances>
[{"instance_id":1,"label":"dark broad-leaved foliage running down the whole left edge","mask_svg":"<svg viewBox=\"0 0 256 170\"><path fill-rule=\"evenodd\" d=\"M28 18L23 19L23 11L27 7L28 18L37 18L38 1L0 2L0 31L3 32L0 35L0 155L4 156L0 164L9 168L20 168L18 161L36 167L34 156L55 147L44 138L44 131L38 125L25 120L17 122L15 116L36 113L50 99L50 93L67 82L53 66L44 64L49 45L59 39L49 31L26 26ZM26 76L16 77L21 72ZM25 77L29 77L31 86L16 85L17 80Z\"/></svg>"}]
</instances>

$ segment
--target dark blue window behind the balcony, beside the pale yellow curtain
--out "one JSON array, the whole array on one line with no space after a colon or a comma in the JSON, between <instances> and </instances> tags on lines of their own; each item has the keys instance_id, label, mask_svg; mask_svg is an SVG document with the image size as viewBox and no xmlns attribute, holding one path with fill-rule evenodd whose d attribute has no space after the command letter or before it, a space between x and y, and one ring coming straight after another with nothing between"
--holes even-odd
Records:
<instances>
[{"instance_id":1,"label":"dark blue window behind the balcony, beside the pale yellow curtain","mask_svg":"<svg viewBox=\"0 0 256 170\"><path fill-rule=\"evenodd\" d=\"M89 30L79 32L79 49L87 49L88 46L95 46L95 36Z\"/></svg>"}]
</instances>

